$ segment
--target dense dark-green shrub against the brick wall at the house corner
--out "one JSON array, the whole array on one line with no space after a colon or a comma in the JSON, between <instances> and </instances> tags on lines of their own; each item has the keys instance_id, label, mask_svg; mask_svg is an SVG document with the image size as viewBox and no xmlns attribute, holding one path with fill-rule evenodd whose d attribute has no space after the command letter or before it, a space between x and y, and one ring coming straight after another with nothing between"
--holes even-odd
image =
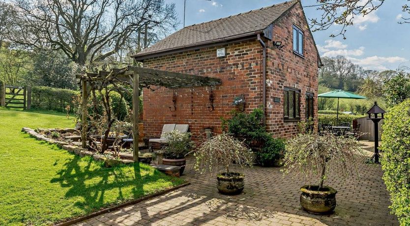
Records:
<instances>
[{"instance_id":1,"label":"dense dark-green shrub against the brick wall at the house corner","mask_svg":"<svg viewBox=\"0 0 410 226\"><path fill-rule=\"evenodd\" d=\"M254 109L249 114L234 112L230 119L222 119L222 125L223 128L228 126L228 133L244 140L248 146L259 147L255 152L258 164L277 166L278 160L283 157L285 144L282 139L275 139L266 132L262 124L263 115L262 109Z\"/></svg>"}]
</instances>

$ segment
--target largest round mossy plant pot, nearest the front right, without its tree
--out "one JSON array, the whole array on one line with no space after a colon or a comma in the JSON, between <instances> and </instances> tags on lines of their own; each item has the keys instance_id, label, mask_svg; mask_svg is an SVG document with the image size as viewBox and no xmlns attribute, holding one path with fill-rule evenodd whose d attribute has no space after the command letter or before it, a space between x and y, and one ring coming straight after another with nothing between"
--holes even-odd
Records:
<instances>
[{"instance_id":1,"label":"largest round mossy plant pot, nearest the front right, without its tree","mask_svg":"<svg viewBox=\"0 0 410 226\"><path fill-rule=\"evenodd\" d=\"M331 213L336 207L337 191L328 186L323 186L321 191L318 191L318 188L316 185L301 187L300 205L310 213Z\"/></svg>"}]
</instances>

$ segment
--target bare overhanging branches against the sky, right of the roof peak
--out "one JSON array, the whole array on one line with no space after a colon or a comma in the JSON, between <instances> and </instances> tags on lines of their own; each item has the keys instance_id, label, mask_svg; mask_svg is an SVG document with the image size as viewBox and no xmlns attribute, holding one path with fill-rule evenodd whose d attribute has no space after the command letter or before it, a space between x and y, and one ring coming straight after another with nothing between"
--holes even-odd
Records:
<instances>
[{"instance_id":1,"label":"bare overhanging branches against the sky, right of the roof peak","mask_svg":"<svg viewBox=\"0 0 410 226\"><path fill-rule=\"evenodd\" d=\"M339 33L330 37L342 35L344 39L347 27L354 24L355 17L364 17L381 7L385 0L316 0L317 4L305 7L317 7L322 11L320 18L309 19L312 31L326 30L332 25L341 25ZM408 0L410 1L410 0ZM403 5L402 11L410 15L410 6ZM410 23L410 16L403 16L400 24Z\"/></svg>"}]
</instances>

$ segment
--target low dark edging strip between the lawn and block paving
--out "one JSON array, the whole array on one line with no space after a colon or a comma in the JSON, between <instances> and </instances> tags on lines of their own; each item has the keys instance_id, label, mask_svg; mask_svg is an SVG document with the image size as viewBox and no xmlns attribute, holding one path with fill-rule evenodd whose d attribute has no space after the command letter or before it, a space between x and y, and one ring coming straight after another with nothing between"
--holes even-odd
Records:
<instances>
[{"instance_id":1,"label":"low dark edging strip between the lawn and block paving","mask_svg":"<svg viewBox=\"0 0 410 226\"><path fill-rule=\"evenodd\" d=\"M146 200L146 199L149 199L149 198L154 198L154 197L157 197L157 196L164 195L164 194L166 194L166 193L175 191L176 189L179 189L179 188L188 186L188 185L190 185L190 184L191 184L190 182L183 183L183 184L181 184L181 185L175 186L175 187L173 187L173 188L166 189L166 190L161 191L161 192L157 192L157 193L154 193L154 194L151 194L151 195L144 196L144 197L142 197L142 198L138 198L138 199L131 200L131 201L128 201L128 202L124 202L124 203L121 203L121 204L118 204L118 205L115 205L115 206L112 206L112 207L108 207L108 208L105 208L105 209L102 209L102 210L98 210L98 211L96 211L96 212L93 212L93 213L91 213L91 214L88 214L87 216L82 216L82 217L74 218L74 219L71 219L71 220L68 220L68 221L64 221L64 222L61 222L61 223L57 223L57 224L55 224L54 226L69 226L69 225L73 225L73 224L76 224L76 223L79 223L79 222L88 220L88 219L90 219L90 218L99 216L99 215L101 215L101 214L108 213L108 212L112 212L112 211L117 210L117 209L119 209L119 208L122 208L122 207L125 207L125 206L128 206L128 205L133 205L133 204L136 204L136 203L138 203L138 202L142 202L142 201L144 201L144 200Z\"/></svg>"}]
</instances>

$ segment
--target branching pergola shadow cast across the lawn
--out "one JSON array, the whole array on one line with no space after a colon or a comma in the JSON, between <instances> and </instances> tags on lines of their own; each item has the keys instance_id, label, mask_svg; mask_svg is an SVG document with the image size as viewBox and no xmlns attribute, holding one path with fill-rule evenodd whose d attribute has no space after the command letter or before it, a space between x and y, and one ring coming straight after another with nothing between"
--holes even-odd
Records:
<instances>
[{"instance_id":1,"label":"branching pergola shadow cast across the lawn","mask_svg":"<svg viewBox=\"0 0 410 226\"><path fill-rule=\"evenodd\" d=\"M105 168L103 163L95 162L90 157L76 155L64 164L57 175L51 183L60 183L61 187L69 188L65 197L75 199L74 206L86 213L164 190L169 187L166 186L168 181L171 186L179 184L145 164Z\"/></svg>"}]
</instances>

